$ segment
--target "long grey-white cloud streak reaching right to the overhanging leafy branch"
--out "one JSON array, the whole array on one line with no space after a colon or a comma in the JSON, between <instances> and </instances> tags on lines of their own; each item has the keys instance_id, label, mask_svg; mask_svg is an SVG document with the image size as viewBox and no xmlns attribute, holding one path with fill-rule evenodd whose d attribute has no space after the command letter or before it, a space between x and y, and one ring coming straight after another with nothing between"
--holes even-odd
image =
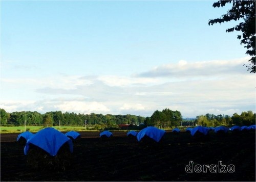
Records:
<instances>
[{"instance_id":1,"label":"long grey-white cloud streak reaching right to the overhanging leafy branch","mask_svg":"<svg viewBox=\"0 0 256 182\"><path fill-rule=\"evenodd\" d=\"M198 76L221 76L227 74L245 74L249 57L234 60L212 60L200 62L187 62L184 60L178 63L170 63L157 66L150 71L134 75L135 77L198 77Z\"/></svg>"}]
</instances>

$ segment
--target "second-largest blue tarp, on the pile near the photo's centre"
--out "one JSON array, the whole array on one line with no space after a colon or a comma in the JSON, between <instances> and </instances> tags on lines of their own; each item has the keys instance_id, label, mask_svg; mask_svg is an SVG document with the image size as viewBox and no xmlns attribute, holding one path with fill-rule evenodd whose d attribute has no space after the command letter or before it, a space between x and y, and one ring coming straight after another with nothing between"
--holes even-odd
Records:
<instances>
[{"instance_id":1,"label":"second-largest blue tarp, on the pile near the photo's centre","mask_svg":"<svg viewBox=\"0 0 256 182\"><path fill-rule=\"evenodd\" d=\"M142 129L138 135L137 140L140 141L144 136L150 137L156 142L159 142L166 132L163 129L150 126Z\"/></svg>"}]
</instances>

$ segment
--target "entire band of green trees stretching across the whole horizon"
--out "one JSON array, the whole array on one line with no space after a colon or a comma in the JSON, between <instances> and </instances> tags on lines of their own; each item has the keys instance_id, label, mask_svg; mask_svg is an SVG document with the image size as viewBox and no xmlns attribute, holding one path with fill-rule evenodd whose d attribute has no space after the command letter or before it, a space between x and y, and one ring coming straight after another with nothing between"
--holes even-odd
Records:
<instances>
[{"instance_id":1,"label":"entire band of green trees stretching across the whole horizon","mask_svg":"<svg viewBox=\"0 0 256 182\"><path fill-rule=\"evenodd\" d=\"M156 110L151 117L142 117L131 114L112 115L112 114L76 114L74 112L62 113L61 111L52 111L40 114L36 111L22 111L8 113L0 109L1 126L87 126L93 125L94 129L119 128L119 124L155 126L159 128L170 128L177 126L231 126L231 125L251 125L255 123L255 113L252 111L242 112L241 115L234 113L231 117L228 115L206 115L197 116L194 120L182 119L180 111L164 109Z\"/></svg>"}]
</instances>

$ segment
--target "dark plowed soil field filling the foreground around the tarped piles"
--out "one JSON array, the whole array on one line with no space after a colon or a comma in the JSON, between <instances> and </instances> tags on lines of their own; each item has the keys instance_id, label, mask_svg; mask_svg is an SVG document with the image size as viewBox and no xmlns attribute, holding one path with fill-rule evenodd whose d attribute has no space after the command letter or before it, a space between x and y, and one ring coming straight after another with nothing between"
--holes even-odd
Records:
<instances>
[{"instance_id":1,"label":"dark plowed soil field filling the foreground around the tarped piles","mask_svg":"<svg viewBox=\"0 0 256 182\"><path fill-rule=\"evenodd\" d=\"M36 171L27 164L18 134L1 134L1 181L255 181L255 131L209 138L188 133L166 133L159 145L141 144L113 132L111 139L99 133L80 133L74 143L72 167L63 172ZM185 167L194 162L194 170ZM223 169L200 172L200 166ZM223 166L226 165L226 166ZM228 168L233 165L235 169ZM228 172L227 168L229 169ZM226 173L225 173L226 171Z\"/></svg>"}]
</instances>

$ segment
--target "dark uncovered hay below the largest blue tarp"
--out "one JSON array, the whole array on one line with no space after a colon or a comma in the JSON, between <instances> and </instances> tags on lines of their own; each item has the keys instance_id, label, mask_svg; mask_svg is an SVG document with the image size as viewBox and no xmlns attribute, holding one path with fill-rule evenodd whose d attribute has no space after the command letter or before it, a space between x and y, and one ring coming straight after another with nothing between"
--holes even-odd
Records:
<instances>
[{"instance_id":1,"label":"dark uncovered hay below the largest blue tarp","mask_svg":"<svg viewBox=\"0 0 256 182\"><path fill-rule=\"evenodd\" d=\"M51 156L45 150L30 144L28 165L38 171L65 171L71 167L72 154L66 142L58 150L57 155Z\"/></svg>"}]
</instances>

